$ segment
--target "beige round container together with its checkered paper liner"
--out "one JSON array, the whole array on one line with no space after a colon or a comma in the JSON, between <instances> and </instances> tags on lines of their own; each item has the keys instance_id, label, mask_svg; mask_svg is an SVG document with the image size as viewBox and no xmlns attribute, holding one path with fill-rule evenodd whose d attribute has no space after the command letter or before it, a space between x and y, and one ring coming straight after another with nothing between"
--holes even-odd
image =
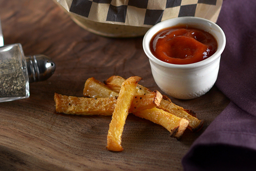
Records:
<instances>
[{"instance_id":1,"label":"beige round container together with its checkered paper liner","mask_svg":"<svg viewBox=\"0 0 256 171\"><path fill-rule=\"evenodd\" d=\"M160 21L194 16L216 22L222 0L55 0L91 32L111 37L144 35Z\"/></svg>"}]
</instances>

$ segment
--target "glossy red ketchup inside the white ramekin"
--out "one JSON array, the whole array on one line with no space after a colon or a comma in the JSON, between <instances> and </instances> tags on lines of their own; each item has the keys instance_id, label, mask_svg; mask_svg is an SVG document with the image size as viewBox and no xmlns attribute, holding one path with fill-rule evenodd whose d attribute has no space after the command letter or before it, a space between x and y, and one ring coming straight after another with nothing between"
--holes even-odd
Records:
<instances>
[{"instance_id":1,"label":"glossy red ketchup inside the white ramekin","mask_svg":"<svg viewBox=\"0 0 256 171\"><path fill-rule=\"evenodd\" d=\"M150 50L161 61L192 64L212 56L217 50L217 41L203 30L176 26L157 32L150 41Z\"/></svg>"}]
</instances>

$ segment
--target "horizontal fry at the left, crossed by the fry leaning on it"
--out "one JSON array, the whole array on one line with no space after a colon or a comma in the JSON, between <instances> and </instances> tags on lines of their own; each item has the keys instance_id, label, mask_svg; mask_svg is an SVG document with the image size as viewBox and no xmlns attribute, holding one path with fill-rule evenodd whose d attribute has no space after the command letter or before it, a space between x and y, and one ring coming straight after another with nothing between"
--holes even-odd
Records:
<instances>
[{"instance_id":1,"label":"horizontal fry at the left, crossed by the fry leaning on it","mask_svg":"<svg viewBox=\"0 0 256 171\"><path fill-rule=\"evenodd\" d=\"M112 115L117 98L84 98L55 93L56 112L76 115ZM162 94L154 91L145 95L136 95L129 113L160 106Z\"/></svg>"}]
</instances>

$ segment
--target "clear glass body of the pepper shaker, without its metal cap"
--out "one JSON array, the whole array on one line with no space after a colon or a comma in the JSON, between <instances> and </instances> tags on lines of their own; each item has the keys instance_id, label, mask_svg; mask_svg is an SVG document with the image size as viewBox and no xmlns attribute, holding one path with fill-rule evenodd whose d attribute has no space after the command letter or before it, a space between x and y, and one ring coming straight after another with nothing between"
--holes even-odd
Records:
<instances>
[{"instance_id":1,"label":"clear glass body of the pepper shaker, without its metal cap","mask_svg":"<svg viewBox=\"0 0 256 171\"><path fill-rule=\"evenodd\" d=\"M29 97L28 82L26 60L21 45L0 47L0 101Z\"/></svg>"}]
</instances>

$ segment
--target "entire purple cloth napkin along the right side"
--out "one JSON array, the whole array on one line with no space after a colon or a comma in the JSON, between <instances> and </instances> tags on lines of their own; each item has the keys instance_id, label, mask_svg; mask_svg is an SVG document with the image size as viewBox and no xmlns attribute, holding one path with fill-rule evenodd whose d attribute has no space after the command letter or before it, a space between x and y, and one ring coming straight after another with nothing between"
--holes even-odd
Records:
<instances>
[{"instance_id":1,"label":"entire purple cloth napkin along the right side","mask_svg":"<svg viewBox=\"0 0 256 171\"><path fill-rule=\"evenodd\" d=\"M224 0L227 43L216 86L230 104L183 157L184 171L256 170L256 0Z\"/></svg>"}]
</instances>

